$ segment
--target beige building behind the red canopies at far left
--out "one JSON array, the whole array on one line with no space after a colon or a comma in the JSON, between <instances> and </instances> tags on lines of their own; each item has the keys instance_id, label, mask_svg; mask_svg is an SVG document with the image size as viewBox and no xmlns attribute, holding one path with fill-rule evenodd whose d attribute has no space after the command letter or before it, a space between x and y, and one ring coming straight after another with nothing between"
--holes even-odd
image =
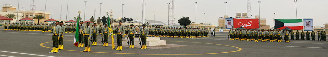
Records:
<instances>
[{"instance_id":1,"label":"beige building behind the red canopies at far left","mask_svg":"<svg viewBox=\"0 0 328 57\"><path fill-rule=\"evenodd\" d=\"M12 5L5 5L5 6L2 6L2 12L16 13L16 15L17 15L17 10L16 10L16 8L17 8L17 7L13 7ZM18 13L20 13L20 14L18 14L18 16L20 16L20 17L18 17L18 20L19 20L19 19L22 19L22 18L24 18L24 17L29 17L29 18L33 19L33 17L34 17L35 15L42 15L42 16L45 17L45 19L41 19L39 23L43 23L44 20L48 20L48 19L50 19L50 18L49 18L49 15L50 15L51 12L45 12L45 11L31 11L31 10L18 10ZM0 13L0 14L1 14L1 13ZM34 20L33 23L38 23L38 22L37 22L37 21L38 21L37 19L33 19L33 20ZM11 22L13 22L13 21L11 21ZM16 22L16 19L14 19L14 22ZM18 22L19 22L19 21L18 21ZM48 23L48 22L45 22L45 23Z\"/></svg>"}]
</instances>

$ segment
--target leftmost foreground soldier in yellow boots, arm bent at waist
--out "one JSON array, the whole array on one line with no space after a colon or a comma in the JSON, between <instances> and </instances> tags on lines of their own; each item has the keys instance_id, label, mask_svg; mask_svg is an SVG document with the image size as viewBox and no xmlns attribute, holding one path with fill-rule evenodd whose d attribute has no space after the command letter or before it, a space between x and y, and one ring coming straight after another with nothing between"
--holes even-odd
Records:
<instances>
[{"instance_id":1,"label":"leftmost foreground soldier in yellow boots, arm bent at waist","mask_svg":"<svg viewBox=\"0 0 328 57\"><path fill-rule=\"evenodd\" d=\"M58 52L58 39L59 39L59 35L60 34L60 26L58 25L59 24L59 21L56 21L56 26L53 27L53 29L49 30L49 32L52 33L52 42L53 42L53 45L52 45L52 50L50 52L53 52L53 53L57 53Z\"/></svg>"}]
</instances>

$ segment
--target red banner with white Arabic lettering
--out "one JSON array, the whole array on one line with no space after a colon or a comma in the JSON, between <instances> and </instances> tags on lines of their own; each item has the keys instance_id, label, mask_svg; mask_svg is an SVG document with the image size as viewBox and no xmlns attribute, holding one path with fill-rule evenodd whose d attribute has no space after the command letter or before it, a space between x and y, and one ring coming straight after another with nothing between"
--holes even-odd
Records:
<instances>
[{"instance_id":1,"label":"red banner with white Arabic lettering","mask_svg":"<svg viewBox=\"0 0 328 57\"><path fill-rule=\"evenodd\" d=\"M236 19L234 18L234 28L243 27L246 29L258 28L258 18L256 19Z\"/></svg>"}]
</instances>

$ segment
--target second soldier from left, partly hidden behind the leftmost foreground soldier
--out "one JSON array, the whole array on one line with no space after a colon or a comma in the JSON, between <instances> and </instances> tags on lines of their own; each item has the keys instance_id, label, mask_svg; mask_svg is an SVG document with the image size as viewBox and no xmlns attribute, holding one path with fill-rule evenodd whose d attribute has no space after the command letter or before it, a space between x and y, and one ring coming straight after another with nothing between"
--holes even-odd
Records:
<instances>
[{"instance_id":1,"label":"second soldier from left, partly hidden behind the leftmost foreground soldier","mask_svg":"<svg viewBox=\"0 0 328 57\"><path fill-rule=\"evenodd\" d=\"M58 40L58 50L63 50L63 37L64 37L64 33L65 33L65 26L63 25L63 21L60 21L60 26L61 26L61 30L60 30L60 36L59 36L59 40Z\"/></svg>"}]
</instances>

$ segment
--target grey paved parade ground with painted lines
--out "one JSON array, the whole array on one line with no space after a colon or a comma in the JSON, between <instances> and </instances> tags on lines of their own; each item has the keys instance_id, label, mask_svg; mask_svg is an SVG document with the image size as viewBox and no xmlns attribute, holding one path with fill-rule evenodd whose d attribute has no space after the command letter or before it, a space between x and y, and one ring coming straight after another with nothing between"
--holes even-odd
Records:
<instances>
[{"instance_id":1,"label":"grey paved parade ground with painted lines","mask_svg":"<svg viewBox=\"0 0 328 57\"><path fill-rule=\"evenodd\" d=\"M64 50L49 53L52 49L52 34L40 31L4 31L0 28L0 57L327 57L328 41L290 40L282 42L254 42L228 40L228 33L216 33L208 38L161 38L166 44L183 45L163 49L140 49L134 42L134 49L124 47L122 51L102 47L98 35L97 46L91 46L91 52L85 48L73 46L74 33L65 33ZM317 37L317 36L316 36ZM114 36L116 39L116 36ZM116 43L116 40L114 40ZM109 39L109 42L111 40ZM125 42L123 42L125 43ZM116 48L115 44L115 48ZM157 46L161 47L161 46ZM164 46L163 46L164 47Z\"/></svg>"}]
</instances>

